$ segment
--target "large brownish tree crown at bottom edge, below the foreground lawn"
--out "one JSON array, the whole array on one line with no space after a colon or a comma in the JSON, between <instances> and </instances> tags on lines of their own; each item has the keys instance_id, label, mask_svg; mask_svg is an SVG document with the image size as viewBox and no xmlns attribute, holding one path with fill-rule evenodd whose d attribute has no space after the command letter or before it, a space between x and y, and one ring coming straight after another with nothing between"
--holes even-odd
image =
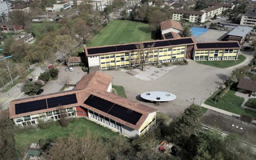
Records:
<instances>
[{"instance_id":1,"label":"large brownish tree crown at bottom edge, below the foreground lawn","mask_svg":"<svg viewBox=\"0 0 256 160\"><path fill-rule=\"evenodd\" d=\"M107 152L101 139L88 131L85 137L58 138L43 156L47 160L103 160Z\"/></svg>"}]
</instances>

